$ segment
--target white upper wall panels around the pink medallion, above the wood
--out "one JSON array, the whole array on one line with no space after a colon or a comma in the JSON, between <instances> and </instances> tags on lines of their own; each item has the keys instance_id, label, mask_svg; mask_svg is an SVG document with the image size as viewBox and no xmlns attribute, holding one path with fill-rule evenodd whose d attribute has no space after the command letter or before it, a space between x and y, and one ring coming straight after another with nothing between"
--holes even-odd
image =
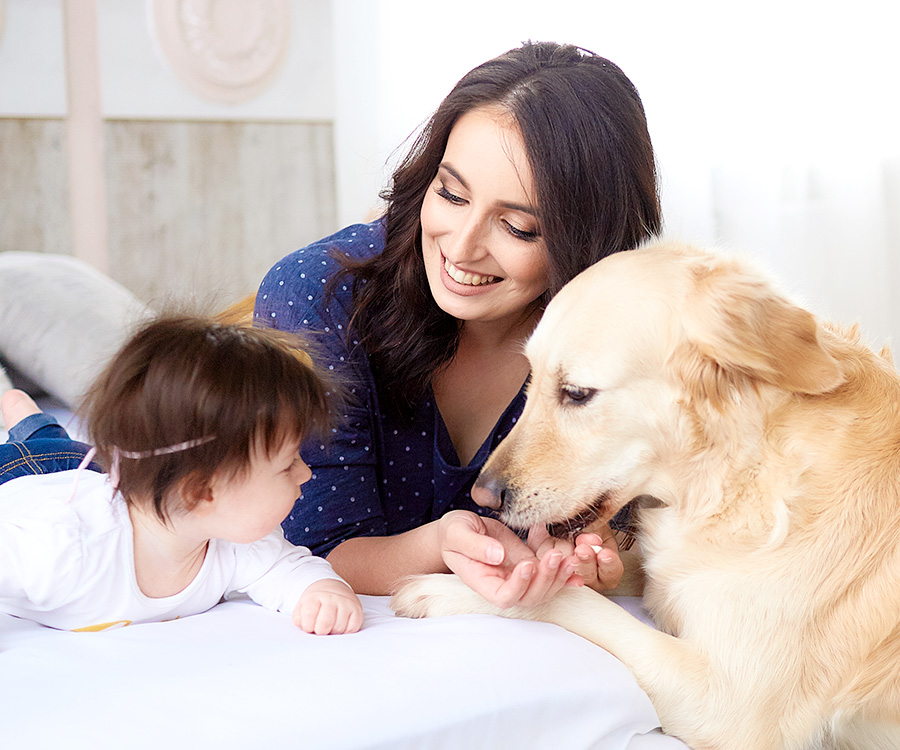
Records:
<instances>
[{"instance_id":1,"label":"white upper wall panels around the pink medallion, above the wood","mask_svg":"<svg viewBox=\"0 0 900 750\"><path fill-rule=\"evenodd\" d=\"M64 0L0 0L0 116L64 117ZM73 5L77 11L77 3ZM287 55L271 85L237 105L182 85L152 38L148 0L97 0L103 115L114 119L331 121L330 0L291 0ZM151 32L151 33L148 33Z\"/></svg>"}]
</instances>

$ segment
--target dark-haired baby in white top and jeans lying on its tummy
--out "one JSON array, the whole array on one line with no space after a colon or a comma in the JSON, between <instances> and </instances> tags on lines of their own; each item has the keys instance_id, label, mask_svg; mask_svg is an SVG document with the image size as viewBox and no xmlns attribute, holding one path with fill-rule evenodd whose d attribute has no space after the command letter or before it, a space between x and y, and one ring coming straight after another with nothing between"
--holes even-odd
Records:
<instances>
[{"instance_id":1,"label":"dark-haired baby in white top and jeans lying on its tummy","mask_svg":"<svg viewBox=\"0 0 900 750\"><path fill-rule=\"evenodd\" d=\"M27 394L5 393L0 612L103 630L246 594L308 633L358 631L359 598L281 531L310 478L300 442L330 422L296 346L200 318L149 324L87 395L87 455ZM94 455L108 473L84 470Z\"/></svg>"}]
</instances>

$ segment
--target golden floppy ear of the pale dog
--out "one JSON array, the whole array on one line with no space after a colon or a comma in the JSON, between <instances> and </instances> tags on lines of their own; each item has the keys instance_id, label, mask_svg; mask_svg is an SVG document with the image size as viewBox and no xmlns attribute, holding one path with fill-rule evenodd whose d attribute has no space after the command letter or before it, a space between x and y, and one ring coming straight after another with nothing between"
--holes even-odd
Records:
<instances>
[{"instance_id":1,"label":"golden floppy ear of the pale dog","mask_svg":"<svg viewBox=\"0 0 900 750\"><path fill-rule=\"evenodd\" d=\"M704 395L721 401L742 378L807 394L844 381L819 340L815 316L766 281L727 261L696 266L694 281L684 328Z\"/></svg>"}]
</instances>

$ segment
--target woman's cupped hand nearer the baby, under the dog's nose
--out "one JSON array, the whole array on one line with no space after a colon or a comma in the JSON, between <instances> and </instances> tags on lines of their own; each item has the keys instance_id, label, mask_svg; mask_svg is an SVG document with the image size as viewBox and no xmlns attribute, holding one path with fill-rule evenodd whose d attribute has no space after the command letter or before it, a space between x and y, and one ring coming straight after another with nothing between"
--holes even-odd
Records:
<instances>
[{"instance_id":1,"label":"woman's cupped hand nearer the baby, under the dog's nose","mask_svg":"<svg viewBox=\"0 0 900 750\"><path fill-rule=\"evenodd\" d=\"M582 585L575 575L579 561L572 549L548 548L536 555L493 518L454 510L441 518L438 531L444 564L498 607L533 606L563 586Z\"/></svg>"}]
</instances>

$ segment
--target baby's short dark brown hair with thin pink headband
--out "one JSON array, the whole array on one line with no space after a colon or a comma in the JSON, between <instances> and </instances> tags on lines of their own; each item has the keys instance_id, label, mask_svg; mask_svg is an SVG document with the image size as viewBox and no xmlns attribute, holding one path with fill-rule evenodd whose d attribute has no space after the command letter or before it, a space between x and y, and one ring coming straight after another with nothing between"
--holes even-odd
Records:
<instances>
[{"instance_id":1,"label":"baby's short dark brown hair with thin pink headband","mask_svg":"<svg viewBox=\"0 0 900 750\"><path fill-rule=\"evenodd\" d=\"M191 510L214 475L249 470L254 451L324 438L332 390L296 336L164 317L119 350L79 412L126 501L152 503L167 521L175 499Z\"/></svg>"}]
</instances>

